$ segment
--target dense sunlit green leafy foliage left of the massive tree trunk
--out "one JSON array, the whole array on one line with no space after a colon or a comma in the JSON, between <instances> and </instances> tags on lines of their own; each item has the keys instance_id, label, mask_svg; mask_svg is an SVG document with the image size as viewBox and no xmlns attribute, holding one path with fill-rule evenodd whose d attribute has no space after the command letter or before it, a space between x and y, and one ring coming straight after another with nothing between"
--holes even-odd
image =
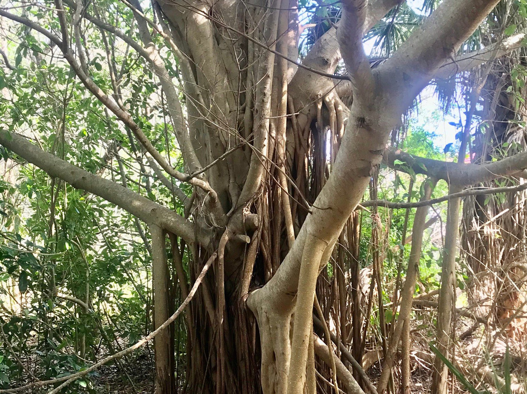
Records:
<instances>
[{"instance_id":1,"label":"dense sunlit green leafy foliage left of the massive tree trunk","mask_svg":"<svg viewBox=\"0 0 527 394\"><path fill-rule=\"evenodd\" d=\"M101 7L104 2L98 3ZM115 24L140 41L136 29L130 29L129 8L106 5ZM26 12L50 31L60 31L51 9L28 6ZM6 114L0 127L30 136L44 150L126 182L129 189L183 213L182 203L159 187L150 169L140 167L136 155L141 152L130 135L86 91L69 65L48 56L50 47L33 32L19 28L15 35L16 44L9 50L17 68L6 73L0 67L0 89L7 92L0 95L0 111ZM106 53L101 33L93 27L86 40L96 54L87 63L94 81L110 92L110 67L119 68L120 86L130 97L124 105L157 149L170 152L174 166L181 167L173 127L165 123L166 109L160 104L166 103L158 96L150 68L117 41L112 42L115 63L109 64L100 55ZM179 60L173 54L166 58L167 70L177 75ZM71 375L148 334L152 272L140 233L145 233L143 223L138 228L130 214L51 179L3 147L0 156L3 163L9 159L8 165L16 166L0 180L0 324L7 340L0 339L0 388L9 388L21 385L25 374L13 351L33 363L35 375L44 380ZM189 185L182 189L192 192ZM187 263L187 254L184 259ZM89 309L75 300L87 301ZM176 349L183 362L184 336L180 334L182 344ZM95 377L88 375L63 392L95 392Z\"/></svg>"}]
</instances>

